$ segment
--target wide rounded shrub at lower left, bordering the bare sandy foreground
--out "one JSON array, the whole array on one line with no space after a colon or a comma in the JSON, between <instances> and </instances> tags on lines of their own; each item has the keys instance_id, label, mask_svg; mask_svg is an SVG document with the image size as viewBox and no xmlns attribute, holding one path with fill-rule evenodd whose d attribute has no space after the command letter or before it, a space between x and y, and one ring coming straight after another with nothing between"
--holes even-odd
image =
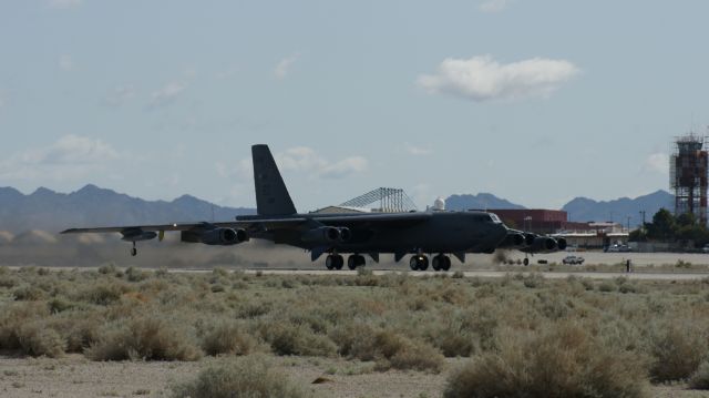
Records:
<instances>
[{"instance_id":1,"label":"wide rounded shrub at lower left, bordering the bare sandy foreground","mask_svg":"<svg viewBox=\"0 0 709 398\"><path fill-rule=\"evenodd\" d=\"M184 325L158 314L107 325L85 354L93 360L196 360L202 356Z\"/></svg>"}]
</instances>

